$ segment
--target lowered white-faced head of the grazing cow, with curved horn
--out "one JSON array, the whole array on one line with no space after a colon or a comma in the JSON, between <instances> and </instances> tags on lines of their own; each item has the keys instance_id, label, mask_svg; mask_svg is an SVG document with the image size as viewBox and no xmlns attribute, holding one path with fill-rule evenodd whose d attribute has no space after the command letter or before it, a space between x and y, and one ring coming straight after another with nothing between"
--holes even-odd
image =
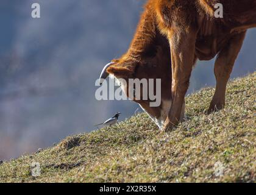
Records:
<instances>
[{"instance_id":1,"label":"lowered white-faced head of the grazing cow, with curved horn","mask_svg":"<svg viewBox=\"0 0 256 195\"><path fill-rule=\"evenodd\" d=\"M121 82L121 87L127 97L131 97L130 91L133 86L129 86L129 79L161 79L161 102L157 107L151 107L151 100L143 100L143 89L141 89L140 100L132 100L140 104L141 108L148 113L152 120L161 129L168 116L171 107L171 53L168 41L158 34L155 40L148 44L143 51L133 55L133 51L128 51L120 59L112 60L102 70L101 79L113 76ZM148 82L149 83L149 82ZM156 89L154 87L154 94ZM134 94L138 97L138 94Z\"/></svg>"}]
</instances>

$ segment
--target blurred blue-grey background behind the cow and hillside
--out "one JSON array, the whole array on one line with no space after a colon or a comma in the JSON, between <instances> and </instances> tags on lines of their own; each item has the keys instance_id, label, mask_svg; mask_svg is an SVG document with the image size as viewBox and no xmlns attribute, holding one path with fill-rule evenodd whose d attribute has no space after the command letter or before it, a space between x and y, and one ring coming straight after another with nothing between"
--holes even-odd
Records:
<instances>
[{"instance_id":1,"label":"blurred blue-grey background behind the cow and hillside","mask_svg":"<svg viewBox=\"0 0 256 195\"><path fill-rule=\"evenodd\" d=\"M31 17L34 2L39 19ZM115 112L133 115L138 105L130 101L96 101L94 83L126 52L144 2L1 0L0 160L90 132ZM232 77L255 71L255 45L249 30ZM215 85L213 62L197 63L188 93Z\"/></svg>"}]
</instances>

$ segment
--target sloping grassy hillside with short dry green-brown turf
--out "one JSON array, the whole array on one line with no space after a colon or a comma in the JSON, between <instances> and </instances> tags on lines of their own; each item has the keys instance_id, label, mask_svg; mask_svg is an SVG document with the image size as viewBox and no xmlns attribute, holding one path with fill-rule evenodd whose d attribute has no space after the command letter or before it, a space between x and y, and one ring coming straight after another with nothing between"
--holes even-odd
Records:
<instances>
[{"instance_id":1,"label":"sloping grassy hillside with short dry green-brown turf","mask_svg":"<svg viewBox=\"0 0 256 195\"><path fill-rule=\"evenodd\" d=\"M187 98L189 120L160 133L144 113L68 137L0 165L1 182L255 182L256 73L229 83L227 106L205 115L207 88ZM38 162L41 176L32 177ZM218 174L222 170L222 174Z\"/></svg>"}]
</instances>

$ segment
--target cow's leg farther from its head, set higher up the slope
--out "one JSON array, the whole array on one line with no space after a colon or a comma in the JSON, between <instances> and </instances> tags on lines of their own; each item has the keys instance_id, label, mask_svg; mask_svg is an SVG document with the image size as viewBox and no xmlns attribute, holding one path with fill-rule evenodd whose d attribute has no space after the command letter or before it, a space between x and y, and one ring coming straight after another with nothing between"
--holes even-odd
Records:
<instances>
[{"instance_id":1,"label":"cow's leg farther from its head, set higher up the slope","mask_svg":"<svg viewBox=\"0 0 256 195\"><path fill-rule=\"evenodd\" d=\"M227 81L233 69L236 57L240 52L246 32L233 35L222 48L215 62L216 89L207 113L220 110L225 106Z\"/></svg>"}]
</instances>

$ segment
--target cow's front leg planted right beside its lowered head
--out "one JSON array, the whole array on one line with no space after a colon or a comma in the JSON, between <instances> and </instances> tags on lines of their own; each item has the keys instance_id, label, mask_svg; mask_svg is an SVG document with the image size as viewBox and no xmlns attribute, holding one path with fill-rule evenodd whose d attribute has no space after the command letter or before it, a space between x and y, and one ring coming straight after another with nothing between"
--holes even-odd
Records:
<instances>
[{"instance_id":1,"label":"cow's front leg planted right beside its lowered head","mask_svg":"<svg viewBox=\"0 0 256 195\"><path fill-rule=\"evenodd\" d=\"M187 29L182 33L174 32L169 35L169 42L172 62L172 105L169 116L162 127L163 131L172 129L180 121L180 113L194 63L196 30Z\"/></svg>"}]
</instances>

